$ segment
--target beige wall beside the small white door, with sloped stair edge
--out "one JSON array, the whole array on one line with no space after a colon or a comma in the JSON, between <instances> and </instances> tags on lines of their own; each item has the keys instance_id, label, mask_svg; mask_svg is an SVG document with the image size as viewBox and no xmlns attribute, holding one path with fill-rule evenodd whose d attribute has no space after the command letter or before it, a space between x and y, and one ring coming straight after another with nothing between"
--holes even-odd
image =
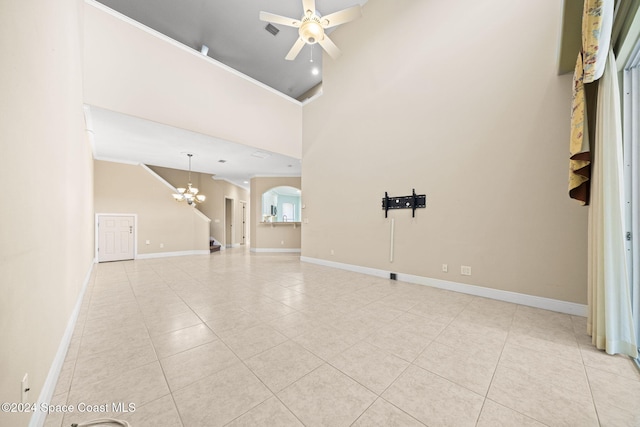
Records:
<instances>
[{"instance_id":1,"label":"beige wall beside the small white door, with sloped stair edge","mask_svg":"<svg viewBox=\"0 0 640 427\"><path fill-rule=\"evenodd\" d=\"M94 174L97 214L137 215L139 255L209 249L209 221L143 166L96 160Z\"/></svg>"}]
</instances>

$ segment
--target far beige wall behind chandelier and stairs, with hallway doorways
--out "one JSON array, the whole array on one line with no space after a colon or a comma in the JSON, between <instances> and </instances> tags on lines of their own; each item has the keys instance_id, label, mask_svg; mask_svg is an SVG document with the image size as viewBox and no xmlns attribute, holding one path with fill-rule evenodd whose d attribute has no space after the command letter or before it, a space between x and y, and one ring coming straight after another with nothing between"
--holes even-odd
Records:
<instances>
[{"instance_id":1,"label":"far beige wall behind chandelier and stairs, with hallway doorways","mask_svg":"<svg viewBox=\"0 0 640 427\"><path fill-rule=\"evenodd\" d=\"M149 167L174 187L184 187L189 180L188 171L159 166ZM209 235L223 245L237 246L242 244L242 204L246 203L245 243L249 242L249 192L237 185L223 180L214 180L211 175L199 172L191 172L191 180L193 186L206 196L205 201L198 205L198 209L211 218ZM229 223L225 215L225 199L233 200L234 208L230 242L227 242L225 233L225 228Z\"/></svg>"}]
</instances>

